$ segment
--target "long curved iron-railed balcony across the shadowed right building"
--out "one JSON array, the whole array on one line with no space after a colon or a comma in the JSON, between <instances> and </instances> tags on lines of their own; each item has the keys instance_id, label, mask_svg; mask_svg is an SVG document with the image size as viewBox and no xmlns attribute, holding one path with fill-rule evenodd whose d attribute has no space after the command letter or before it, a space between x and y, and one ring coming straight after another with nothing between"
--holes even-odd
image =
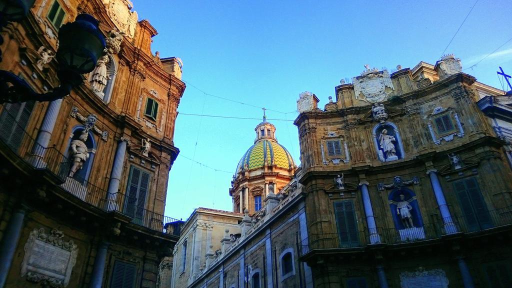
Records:
<instances>
[{"instance_id":1,"label":"long curved iron-railed balcony across the shadowed right building","mask_svg":"<svg viewBox=\"0 0 512 288\"><path fill-rule=\"evenodd\" d=\"M456 216L443 220L425 223L421 228L403 230L377 228L376 233L371 234L368 231L355 232L351 235L312 234L300 244L300 254L304 256L312 251L321 253L364 251L374 244L397 246L426 243L426 241L449 235L473 237L498 232L500 229L512 227L512 206L481 212L479 215Z\"/></svg>"}]
</instances>

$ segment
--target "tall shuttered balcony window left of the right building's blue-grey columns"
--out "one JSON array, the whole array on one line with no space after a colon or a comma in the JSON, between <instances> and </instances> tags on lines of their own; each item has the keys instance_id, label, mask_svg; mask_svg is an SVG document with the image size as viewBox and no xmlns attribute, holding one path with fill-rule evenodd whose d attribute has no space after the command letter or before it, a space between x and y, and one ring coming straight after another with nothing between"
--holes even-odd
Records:
<instances>
[{"instance_id":1,"label":"tall shuttered balcony window left of the right building's blue-grey columns","mask_svg":"<svg viewBox=\"0 0 512 288\"><path fill-rule=\"evenodd\" d=\"M334 202L334 213L340 246L342 248L358 246L359 240L354 203L350 200Z\"/></svg>"}]
</instances>

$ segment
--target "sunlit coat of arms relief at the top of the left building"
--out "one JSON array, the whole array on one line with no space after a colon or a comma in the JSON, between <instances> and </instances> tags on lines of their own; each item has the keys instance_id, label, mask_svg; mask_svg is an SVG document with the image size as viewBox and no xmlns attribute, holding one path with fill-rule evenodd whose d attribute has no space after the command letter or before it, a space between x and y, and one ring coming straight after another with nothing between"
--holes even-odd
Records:
<instances>
[{"instance_id":1,"label":"sunlit coat of arms relief at the top of the left building","mask_svg":"<svg viewBox=\"0 0 512 288\"><path fill-rule=\"evenodd\" d=\"M103 3L119 32L133 38L139 18L137 12L131 11L133 3L130 0L103 0Z\"/></svg>"}]
</instances>

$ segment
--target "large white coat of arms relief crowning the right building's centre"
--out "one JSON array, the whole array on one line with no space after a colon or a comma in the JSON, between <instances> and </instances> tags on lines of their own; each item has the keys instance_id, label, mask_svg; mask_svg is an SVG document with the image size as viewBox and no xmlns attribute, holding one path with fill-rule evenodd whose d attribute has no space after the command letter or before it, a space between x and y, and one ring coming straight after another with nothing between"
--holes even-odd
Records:
<instances>
[{"instance_id":1,"label":"large white coat of arms relief crowning the right building's centre","mask_svg":"<svg viewBox=\"0 0 512 288\"><path fill-rule=\"evenodd\" d=\"M361 76L352 78L356 99L370 103L385 100L395 89L388 70L370 69L369 65L365 65L365 68L366 70L361 73Z\"/></svg>"}]
</instances>

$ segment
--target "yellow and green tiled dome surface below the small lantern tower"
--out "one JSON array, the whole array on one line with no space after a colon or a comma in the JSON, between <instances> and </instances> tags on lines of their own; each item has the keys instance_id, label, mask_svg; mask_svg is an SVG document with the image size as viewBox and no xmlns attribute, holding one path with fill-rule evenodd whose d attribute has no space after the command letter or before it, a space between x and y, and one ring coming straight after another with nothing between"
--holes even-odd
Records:
<instances>
[{"instance_id":1,"label":"yellow and green tiled dome surface below the small lantern tower","mask_svg":"<svg viewBox=\"0 0 512 288\"><path fill-rule=\"evenodd\" d=\"M263 168L263 166L273 165L283 168L292 169L295 162L290 153L281 144L268 139L260 139L240 159L237 167L237 173L245 169Z\"/></svg>"}]
</instances>

